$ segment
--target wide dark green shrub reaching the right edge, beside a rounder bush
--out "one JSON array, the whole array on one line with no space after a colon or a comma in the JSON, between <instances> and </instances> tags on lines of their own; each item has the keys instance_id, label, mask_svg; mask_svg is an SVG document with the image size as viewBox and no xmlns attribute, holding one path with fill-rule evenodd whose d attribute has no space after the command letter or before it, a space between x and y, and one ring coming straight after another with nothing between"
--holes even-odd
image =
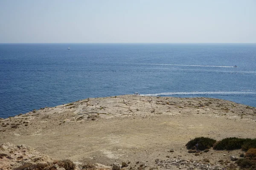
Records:
<instances>
[{"instance_id":1,"label":"wide dark green shrub reaching the right edge, beside a rounder bush","mask_svg":"<svg viewBox=\"0 0 256 170\"><path fill-rule=\"evenodd\" d=\"M221 141L217 142L213 149L215 150L235 150L235 149L243 149L243 150L248 150L251 147L255 146L256 147L256 139L243 139L243 138L236 138L236 137L231 137L231 138L225 138L222 139Z\"/></svg>"}]
</instances>

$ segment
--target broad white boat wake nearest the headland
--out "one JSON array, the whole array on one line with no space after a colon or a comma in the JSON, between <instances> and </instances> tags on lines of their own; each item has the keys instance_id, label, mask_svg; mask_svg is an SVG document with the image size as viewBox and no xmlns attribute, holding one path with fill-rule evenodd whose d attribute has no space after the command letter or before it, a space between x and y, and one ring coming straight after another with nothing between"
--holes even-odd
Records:
<instances>
[{"instance_id":1,"label":"broad white boat wake nearest the headland","mask_svg":"<svg viewBox=\"0 0 256 170\"><path fill-rule=\"evenodd\" d=\"M256 96L255 90L243 91L194 91L194 92L169 92L156 94L141 94L141 96L173 96L173 95L209 95L209 96Z\"/></svg>"}]
</instances>

